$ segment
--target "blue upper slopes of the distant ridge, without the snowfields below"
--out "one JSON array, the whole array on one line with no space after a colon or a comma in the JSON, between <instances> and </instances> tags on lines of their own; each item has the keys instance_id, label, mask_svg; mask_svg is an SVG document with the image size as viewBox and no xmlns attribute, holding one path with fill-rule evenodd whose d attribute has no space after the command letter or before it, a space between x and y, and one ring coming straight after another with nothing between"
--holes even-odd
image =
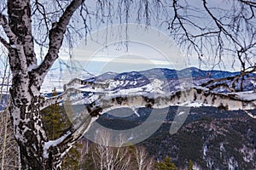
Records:
<instances>
[{"instance_id":1,"label":"blue upper slopes of the distant ridge, without the snowfields below","mask_svg":"<svg viewBox=\"0 0 256 170\"><path fill-rule=\"evenodd\" d=\"M168 86L171 91L175 91L179 82L183 82L183 80L193 82L195 85L201 85L203 82L207 82L211 79L219 79L224 77L235 77L239 75L240 72L230 72L230 71L202 71L195 67L189 67L187 69L183 69L181 71L176 71L172 69L166 68L154 68L147 71L131 71L131 72L123 72L123 73L114 73L114 72L106 72L98 77L93 77L87 79L92 82L105 82L109 80L115 81L126 81L125 87L124 84L117 84L116 88L137 88L143 87L144 85L153 82L154 79L158 79L163 81L166 84L168 82ZM245 77L244 80L244 90L253 90L255 88L256 82L256 74L252 73ZM227 82L230 83L230 82ZM118 87L119 86L119 87ZM167 86L167 85L166 85Z\"/></svg>"}]
</instances>

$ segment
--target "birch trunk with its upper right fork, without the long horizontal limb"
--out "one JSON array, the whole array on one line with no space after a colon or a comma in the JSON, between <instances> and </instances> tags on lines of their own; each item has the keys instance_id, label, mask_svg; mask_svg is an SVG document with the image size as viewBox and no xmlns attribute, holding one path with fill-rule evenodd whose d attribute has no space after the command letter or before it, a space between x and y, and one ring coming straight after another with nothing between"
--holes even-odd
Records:
<instances>
[{"instance_id":1,"label":"birch trunk with its upper right fork, without the long horizontal limb","mask_svg":"<svg viewBox=\"0 0 256 170\"><path fill-rule=\"evenodd\" d=\"M58 58L67 24L83 2L74 0L70 3L49 31L49 51L41 65L38 65L34 52L30 1L9 0L8 20L0 15L0 23L9 38L9 43L5 43L13 74L9 113L19 144L21 169L59 169L62 157L70 148L61 143L66 138L49 143L40 116L40 88L46 73Z\"/></svg>"}]
</instances>

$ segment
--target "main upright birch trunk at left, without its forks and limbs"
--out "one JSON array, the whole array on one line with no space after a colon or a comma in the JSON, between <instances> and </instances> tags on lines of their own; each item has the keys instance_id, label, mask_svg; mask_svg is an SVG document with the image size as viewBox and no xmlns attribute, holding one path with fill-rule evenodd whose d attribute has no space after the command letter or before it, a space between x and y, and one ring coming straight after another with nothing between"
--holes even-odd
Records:
<instances>
[{"instance_id":1,"label":"main upright birch trunk at left, without its forks and limbs","mask_svg":"<svg viewBox=\"0 0 256 170\"><path fill-rule=\"evenodd\" d=\"M20 148L21 169L47 169L53 162L43 157L47 141L39 114L40 82L28 67L37 65L34 54L29 1L9 1L9 64L13 72L9 112Z\"/></svg>"}]
</instances>

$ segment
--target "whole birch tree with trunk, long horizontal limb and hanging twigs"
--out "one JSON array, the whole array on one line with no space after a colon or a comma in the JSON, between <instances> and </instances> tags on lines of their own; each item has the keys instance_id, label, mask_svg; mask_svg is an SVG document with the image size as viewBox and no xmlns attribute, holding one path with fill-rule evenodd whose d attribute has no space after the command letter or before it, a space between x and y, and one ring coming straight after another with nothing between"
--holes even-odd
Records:
<instances>
[{"instance_id":1,"label":"whole birch tree with trunk, long horizontal limb and hanging twigs","mask_svg":"<svg viewBox=\"0 0 256 170\"><path fill-rule=\"evenodd\" d=\"M163 96L159 96L158 98L153 98L150 96L143 96L143 94L134 94L127 97L122 96L107 96L98 99L97 101L91 103L87 106L86 110L83 111L83 114L89 115L88 118L85 118L81 122L77 122L76 127L70 127L67 129L67 132L63 133L59 139L49 140L46 136L44 125L42 123L42 118L40 116L40 110L44 107L54 104L55 102L61 101L61 96L55 97L55 100L47 100L45 102L40 101L40 88L44 81L44 77L49 71L50 67L54 64L55 59L58 58L58 53L62 45L64 34L67 30L67 25L71 20L74 12L81 7L81 4L84 3L84 0L70 0L70 1L57 1L57 3L66 3L65 8L60 7L60 17L56 22L50 23L52 24L51 28L46 23L48 39L42 41L44 44L48 43L48 51L44 56L43 62L38 65L37 58L35 54L34 41L32 36L32 9L31 9L31 1L30 0L6 0L7 1L7 12L8 17L0 13L0 26L2 26L2 31L4 31L5 35L0 35L0 42L3 44L5 48L9 50L9 65L12 72L12 86L10 88L11 102L9 106L9 113L13 122L14 131L15 131L15 139L19 144L20 148L20 169L60 169L61 168L61 160L63 156L67 153L67 151L72 147L73 143L81 137L81 135L86 132L90 128L90 124L96 120L98 116L103 114L106 111L113 110L114 108L119 107L148 107L148 108L163 108L169 105L181 105L185 102L202 102L207 105L216 106L226 110L249 110L256 108L256 99L254 97L250 97L250 99L244 99L236 94L218 94L211 92L211 90L206 90L205 88L190 88L186 91L177 92L175 94L165 94ZM39 1L34 1L33 3L37 3L38 10L44 9L44 5L39 4ZM45 1L46 2L46 1ZM44 3L45 3L44 2ZM115 10L115 5L111 3L112 1L97 1L96 8L102 12L102 17L100 18L100 22L104 22L105 13L104 8L109 8L109 10ZM129 14L134 11L130 11L130 3L132 1L122 1L125 5L125 21L128 21ZM142 1L138 1L142 2ZM156 1L161 4L160 1ZM240 22L235 22L235 27L231 26L226 31L224 24L218 20L211 13L210 9L207 7L207 2L202 1L207 14L210 14L214 23L216 23L218 30L212 31L208 29L208 27L199 27L202 31L201 35L193 36L190 35L187 29L183 25L183 20L187 20L184 18L181 20L180 15L177 13L179 8L179 3L177 1L173 1L172 7L174 11L174 16L172 22L169 24L169 28L172 31L176 32L177 35L185 35L186 37L180 38L181 40L186 39L187 41L192 43L193 48L195 50L199 47L197 46L197 42L195 38L201 38L208 35L208 37L212 37L212 35L217 34L215 37L218 37L217 47L218 51L222 51L224 49L223 39L221 37L229 37L230 41L228 41L228 46L232 46L230 44L234 44L235 52L239 53L239 59L241 59L241 54L245 54L245 60L250 57L247 54L251 53L251 50L255 47L255 31L250 28L254 28L253 23L249 23L247 25L247 31L249 31L249 35L247 37L252 37L251 42L246 45L246 47L241 46L243 42L237 42L235 37L243 37L238 34L240 32L239 29L236 29L236 25L239 27ZM240 1L241 7L244 8L244 4L247 4L247 8L251 8L252 17L245 18L244 15L240 16L240 19L246 20L249 22L250 19L254 17L253 10L255 8L255 3L250 1ZM42 5L42 6L40 6ZM98 6L99 5L99 6ZM162 5L162 4L161 4ZM161 6L160 5L160 6ZM135 3L137 6L137 3ZM149 9L148 3L144 5L139 5L138 8L145 9L145 18L146 24L149 25ZM155 5L157 6L157 5ZM122 7L118 7L119 12L117 12L119 17L122 17L123 10ZM157 8L157 7L155 7ZM165 8L165 7L164 7ZM42 9L42 10L43 10ZM84 6L81 7L81 10L87 11L87 8ZM188 8L184 8L188 9ZM98 11L98 10L96 10ZM143 11L143 10L139 10ZM138 16L142 12L137 12ZM46 13L42 12L44 15L44 19L47 19ZM83 13L80 11L80 14ZM89 13L86 13L89 14ZM111 13L109 13L111 14ZM201 13L200 13L201 14ZM99 14L101 15L101 14ZM100 17L98 13L96 13L96 17ZM112 14L111 14L112 15ZM106 16L109 19L109 15ZM118 17L118 18L119 18ZM113 15L114 18L114 15ZM231 15L231 19L235 19L236 14ZM42 20L44 20L42 19ZM226 18L224 18L225 20ZM84 24L86 25L86 18L83 18ZM112 22L112 20L110 20ZM138 20L139 22L141 20ZM39 22L35 20L34 22ZM123 21L122 21L123 22ZM192 21L188 21L189 23L194 23ZM38 24L38 23L37 23ZM174 26L174 27L173 27ZM192 25L194 26L194 25ZM86 27L86 26L85 26ZM182 28L182 29L181 29ZM234 29L235 28L235 29ZM183 33L180 33L179 30L183 30ZM205 30L209 30L209 32L204 32ZM214 30L214 29L213 29ZM231 30L231 31L230 31ZM233 30L237 30L233 32ZM252 30L252 31L250 31ZM231 33L229 33L229 31ZM222 36L224 34L224 36ZM252 35L252 36L250 36ZM195 37L191 39L190 37ZM207 37L206 37L207 38ZM239 39L238 38L238 39ZM211 39L209 39L211 40ZM225 39L224 39L225 40ZM245 40L244 40L245 41ZM201 41L202 43L208 42ZM212 41L209 41L212 45ZM203 45L204 46L204 45ZM238 48L241 50L238 50ZM207 47L207 46L206 46ZM220 48L219 48L220 47ZM201 50L198 50L201 51ZM207 50L208 51L208 50ZM234 51L234 49L233 49ZM234 52L234 53L235 53ZM220 53L221 54L221 53ZM243 70L245 71L245 63L241 62L243 66ZM256 67L253 65L252 72L255 72ZM244 72L243 72L244 73ZM233 79L236 77L233 77ZM238 78L237 78L238 80ZM79 81L83 83L82 81ZM210 83L210 82L209 82ZM95 85L90 82L90 85ZM108 86L108 85L106 85ZM105 88L102 87L102 91L105 91ZM64 92L65 94L66 92ZM63 95L64 95L63 94ZM250 94L252 95L252 94ZM94 118L95 117L95 118Z\"/></svg>"}]
</instances>

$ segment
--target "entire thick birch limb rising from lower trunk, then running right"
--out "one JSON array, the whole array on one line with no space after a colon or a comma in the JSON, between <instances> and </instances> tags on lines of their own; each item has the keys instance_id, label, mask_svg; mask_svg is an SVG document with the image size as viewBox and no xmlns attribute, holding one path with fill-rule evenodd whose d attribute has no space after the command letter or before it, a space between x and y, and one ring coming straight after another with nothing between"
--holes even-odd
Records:
<instances>
[{"instance_id":1,"label":"entire thick birch limb rising from lower trunk, then running right","mask_svg":"<svg viewBox=\"0 0 256 170\"><path fill-rule=\"evenodd\" d=\"M253 97L254 96L254 97ZM247 98L250 97L251 99ZM49 156L49 149L53 147L62 148L58 152L64 156L70 145L79 139L84 133L89 131L90 126L96 121L98 116L113 109L129 108L165 108L171 105L189 105L191 103L212 105L224 110L252 110L256 109L255 92L218 94L208 91L206 88L189 88L171 94L130 94L102 96L84 111L80 112L73 122L73 127L67 129L59 139L48 141L44 144L44 156Z\"/></svg>"}]
</instances>

